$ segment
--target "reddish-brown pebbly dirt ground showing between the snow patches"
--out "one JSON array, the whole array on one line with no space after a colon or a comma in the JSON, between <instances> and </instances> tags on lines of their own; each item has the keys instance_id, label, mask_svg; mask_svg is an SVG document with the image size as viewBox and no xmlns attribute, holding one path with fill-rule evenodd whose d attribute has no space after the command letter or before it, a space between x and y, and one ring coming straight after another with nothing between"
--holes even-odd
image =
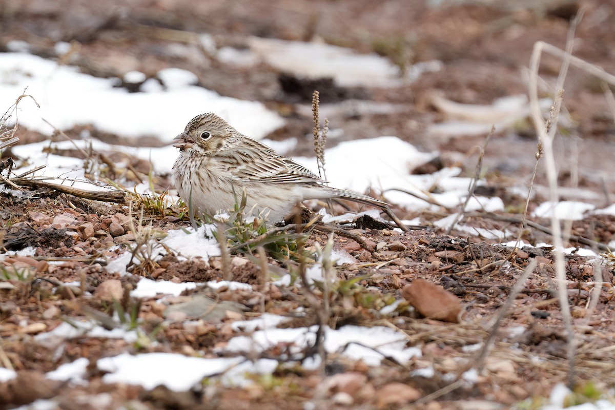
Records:
<instances>
[{"instance_id":1,"label":"reddish-brown pebbly dirt ground showing between the snow patches","mask_svg":"<svg viewBox=\"0 0 615 410\"><path fill-rule=\"evenodd\" d=\"M356 98L402 107L400 112L391 114L361 112L357 115L336 111L329 120L345 133L331 143L396 135L421 150L440 153L438 160L422 171L461 165L464 175L472 176L477 161L476 147L484 144L485 135L430 136L429 124L444 120L442 112L430 103L431 95L441 92L459 103L491 104L496 98L526 93L524 73L534 42L544 41L563 48L569 18L576 14L581 3L585 15L576 30L574 54L608 73L615 73L615 1L612 0L133 0L129 4L106 0L2 1L0 50L7 51L10 41L20 40L30 44L31 52L49 57L53 55L56 42L71 42L74 52L63 63L103 77L122 77L132 70L154 76L159 69L169 66L188 69L197 74L199 85L207 89L229 97L262 101L284 116L287 125L268 138L296 137L298 144L288 156L312 151L313 142L306 136L311 133L311 116L303 109L310 102L304 90L301 87L285 90L282 73L265 65L242 69L225 66L202 54L196 55L197 49L191 47L195 33L210 33L218 44L232 45L245 44L247 36L301 41L322 39L359 52L382 53L402 67L440 60L443 63L440 71L423 74L419 81L395 89L342 89L323 82L329 84L319 90L323 103L342 103ZM177 52L179 49L183 52ZM203 58L207 60L206 65ZM557 58L544 57L541 78L547 84L555 84L559 68ZM608 192L615 190L615 165L611 160L615 122L608 100L594 77L573 68L566 79L564 104L573 122L566 128L566 136L558 139L556 147L561 156L559 182L561 186L571 187L577 180L578 187L599 194L592 200L595 205L608 205ZM79 131L66 133L76 138ZM161 144L151 138L135 141L121 135L97 134L96 130L92 130L92 135L112 143ZM44 136L23 130L20 138L26 143ZM507 188L529 183L536 150L536 135L530 122L494 135L485 154L487 186L482 189L487 195L501 197L510 213L501 213L500 218L473 214L464 219L464 224L510 229L517 234L520 224L502 217L522 218L518 211L525 198L511 194ZM569 152L576 152L576 159L565 160L570 159ZM168 176L159 177L159 187L168 186ZM530 211L547 196L541 188L546 185L542 164L539 164L536 184L538 188L530 202ZM407 406L436 410L478 408L480 401L491 404L484 408L495 409L528 398L536 400L526 402L526 408L537 408L538 398L548 396L555 384L568 380L566 333L552 291L555 289L552 249L525 248L515 255L510 248L493 246L494 240L462 231L447 233L432 226L435 220L455 210L416 213L397 208L395 213L402 219L419 217L423 229L399 234L389 229L355 227L351 234L359 237L362 243L352 239L352 235L336 235L336 250L345 250L357 258L356 264L338 268L338 277L341 280L357 278L357 283L368 289L371 296L367 298L366 291L357 291L334 297L327 323L333 328L386 323L406 334L407 345L419 347L422 357L410 363L387 361L379 368L368 368L342 355L330 355L326 374L301 368L280 369L274 374L274 382L268 384L260 380L251 389L204 385L202 390L177 393L164 387L146 390L131 385L103 384L103 375L93 366L98 358L124 351L212 353L213 347L221 347L235 336L228 331L235 317L223 318L220 323L210 325L207 331L173 324L153 336L159 342L156 345L135 347L122 340L89 338L66 340L61 350L34 344L34 334L55 328L63 317L84 317L92 309L106 313L113 310L100 299L86 298L80 291L93 293L101 283L113 279L121 280L127 289L129 277L109 275L99 262L118 253L109 250L111 246L134 241L126 236L130 235L126 207L109 207L46 190L36 191L36 194L40 199L17 199L0 193L3 246L7 250L36 248L34 257L0 262L5 266L27 268L35 277L30 282L8 280L6 283L11 283L12 288L7 286L0 290L0 363L18 370L18 379L0 383L0 409L12 408L8 403L28 404L37 398L51 397L62 409L95 409L99 407L88 404L89 398L101 393L108 393L110 397L107 408L125 405L125 408L143 409L272 409L282 406L304 409L304 404L310 401L315 403L315 408ZM573 197L573 194L568 195ZM68 224L57 225L57 216L71 220ZM186 218L170 215L148 218L163 231L189 223ZM530 220L540 226L549 226L546 220ZM596 250L605 251L604 245L615 239L615 218L594 215L575 221L571 234L576 236L571 237L566 246L591 247L587 242L579 242L582 237L601 243L602 247ZM551 242L549 235L536 227L526 227L521 237L528 243ZM324 244L327 234L312 232L306 245L314 242ZM46 261L52 257L73 260L59 265ZM245 258L245 255L237 258ZM483 372L474 384L451 384L451 380L458 380L458 376L471 367L477 352L468 347L488 337L489 320L507 300L530 258L538 261L538 267L503 319ZM278 266L275 261L269 262L279 269L290 269ZM610 302L613 267L608 264L595 267L593 262L577 254L566 256L565 267L577 336L573 378L580 386L592 383L596 390L606 392L615 382L615 357L610 349L615 331L613 303ZM599 270L597 274L596 269ZM248 261L237 267L234 279L250 283L255 291L260 291L258 272L258 267ZM223 269L215 260L207 264L180 262L169 257L146 274L179 282L206 282L221 279ZM464 307L461 323L426 319L408 311L394 315L379 313L387 298L402 298L404 286L417 278L436 283L460 299ZM67 289L62 285L73 281L81 281L81 288ZM598 304L590 308L590 291L595 281L603 282L603 286ZM189 291L186 296L196 292ZM252 315L261 312L261 300L255 301L253 293L224 288L213 293L221 301L244 304ZM300 286L276 287L267 294L260 293L260 298L267 312L284 314L303 306L312 313L307 319L289 326L317 323L314 306ZM162 322L159 305L156 301L146 301L138 307L144 329L154 329ZM375 309L374 306L379 307ZM523 328L520 333L519 326ZM279 353L271 351L266 355L277 357ZM79 357L87 357L92 363L89 384L74 386L44 378L45 372ZM434 377L413 373L429 366L434 368ZM331 381L340 374L349 375L347 377L359 387L340 387L341 384ZM455 375L453 379L451 374ZM453 388L448 388L451 385ZM352 404L344 402L339 392L347 393ZM346 400L346 396L343 398Z\"/></svg>"}]
</instances>

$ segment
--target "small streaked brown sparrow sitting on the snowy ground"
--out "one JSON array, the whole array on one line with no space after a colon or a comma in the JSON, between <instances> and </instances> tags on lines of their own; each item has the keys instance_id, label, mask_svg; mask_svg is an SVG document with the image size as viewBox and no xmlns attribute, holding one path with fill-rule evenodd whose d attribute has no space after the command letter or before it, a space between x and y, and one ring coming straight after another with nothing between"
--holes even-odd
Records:
<instances>
[{"instance_id":1,"label":"small streaked brown sparrow sitting on the snowy ground","mask_svg":"<svg viewBox=\"0 0 615 410\"><path fill-rule=\"evenodd\" d=\"M293 215L295 205L308 199L340 198L389 207L367 195L328 186L308 168L243 135L212 112L191 119L173 141L180 151L173 182L195 215L232 210L244 192L245 209L273 223Z\"/></svg>"}]
</instances>

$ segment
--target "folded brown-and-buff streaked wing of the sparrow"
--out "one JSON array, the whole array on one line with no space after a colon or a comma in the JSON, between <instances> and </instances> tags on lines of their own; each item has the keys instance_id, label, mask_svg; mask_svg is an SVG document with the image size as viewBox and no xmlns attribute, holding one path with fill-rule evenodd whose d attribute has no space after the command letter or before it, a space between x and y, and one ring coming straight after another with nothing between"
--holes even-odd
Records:
<instances>
[{"instance_id":1,"label":"folded brown-and-buff streaked wing of the sparrow","mask_svg":"<svg viewBox=\"0 0 615 410\"><path fill-rule=\"evenodd\" d=\"M289 158L279 156L268 146L245 138L241 146L216 153L218 163L237 181L268 183L323 182L308 168Z\"/></svg>"}]
</instances>

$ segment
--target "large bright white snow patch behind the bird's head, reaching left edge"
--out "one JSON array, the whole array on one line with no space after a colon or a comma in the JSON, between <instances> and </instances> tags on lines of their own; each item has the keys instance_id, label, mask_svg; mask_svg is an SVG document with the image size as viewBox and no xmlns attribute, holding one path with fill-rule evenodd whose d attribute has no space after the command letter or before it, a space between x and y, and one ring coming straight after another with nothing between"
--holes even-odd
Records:
<instances>
[{"instance_id":1,"label":"large bright white snow patch behind the bird's head, reaching left edge","mask_svg":"<svg viewBox=\"0 0 615 410\"><path fill-rule=\"evenodd\" d=\"M167 90L129 93L114 88L116 80L82 74L73 66L58 65L26 53L0 54L0 106L8 108L27 87L41 105L26 98L19 104L19 121L31 130L51 135L42 118L65 130L93 124L98 130L121 136L157 136L171 142L192 117L216 112L239 132L262 138L284 124L259 102L221 97L196 85L196 76L176 68L161 70ZM177 156L177 155L175 155Z\"/></svg>"}]
</instances>

